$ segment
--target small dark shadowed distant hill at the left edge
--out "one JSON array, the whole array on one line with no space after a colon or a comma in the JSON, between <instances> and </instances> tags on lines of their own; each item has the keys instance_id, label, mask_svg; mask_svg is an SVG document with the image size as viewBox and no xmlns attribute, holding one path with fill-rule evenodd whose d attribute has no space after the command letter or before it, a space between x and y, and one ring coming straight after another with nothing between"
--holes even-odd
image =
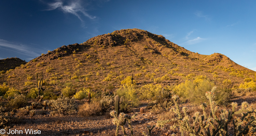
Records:
<instances>
[{"instance_id":1,"label":"small dark shadowed distant hill at the left edge","mask_svg":"<svg viewBox=\"0 0 256 136\"><path fill-rule=\"evenodd\" d=\"M23 61L19 58L0 59L0 71L15 69L15 67L19 67L21 64L26 64L26 63L27 63L26 61Z\"/></svg>"}]
</instances>

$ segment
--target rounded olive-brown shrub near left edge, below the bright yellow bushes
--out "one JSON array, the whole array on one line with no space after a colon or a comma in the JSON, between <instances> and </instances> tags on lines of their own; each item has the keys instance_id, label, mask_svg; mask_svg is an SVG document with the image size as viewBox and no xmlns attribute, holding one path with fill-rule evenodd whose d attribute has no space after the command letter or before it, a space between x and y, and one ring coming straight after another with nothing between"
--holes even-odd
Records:
<instances>
[{"instance_id":1,"label":"rounded olive-brown shrub near left edge, below the bright yellow bushes","mask_svg":"<svg viewBox=\"0 0 256 136\"><path fill-rule=\"evenodd\" d=\"M9 105L15 108L23 107L26 104L27 104L26 97L22 94L21 95L15 94L14 99L11 99L11 101L9 101Z\"/></svg>"}]
</instances>

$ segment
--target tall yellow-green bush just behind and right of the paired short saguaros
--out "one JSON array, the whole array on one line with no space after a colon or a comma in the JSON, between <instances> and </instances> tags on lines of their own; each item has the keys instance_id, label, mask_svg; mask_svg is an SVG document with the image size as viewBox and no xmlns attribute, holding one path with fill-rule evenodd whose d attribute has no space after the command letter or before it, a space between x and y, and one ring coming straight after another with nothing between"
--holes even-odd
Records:
<instances>
[{"instance_id":1,"label":"tall yellow-green bush just behind and right of the paired short saguaros","mask_svg":"<svg viewBox=\"0 0 256 136\"><path fill-rule=\"evenodd\" d=\"M117 89L116 94L119 97L124 97L126 100L126 109L139 106L139 100L137 98L137 86L136 85L130 85L126 86L123 85L121 88Z\"/></svg>"}]
</instances>

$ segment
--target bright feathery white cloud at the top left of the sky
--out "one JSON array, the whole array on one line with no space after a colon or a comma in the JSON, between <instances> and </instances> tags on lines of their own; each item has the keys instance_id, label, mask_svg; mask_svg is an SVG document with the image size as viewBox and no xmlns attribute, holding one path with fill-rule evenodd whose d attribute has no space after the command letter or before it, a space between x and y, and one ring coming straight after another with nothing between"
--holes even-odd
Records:
<instances>
[{"instance_id":1,"label":"bright feathery white cloud at the top left of the sky","mask_svg":"<svg viewBox=\"0 0 256 136\"><path fill-rule=\"evenodd\" d=\"M59 9L64 13L71 13L74 14L75 16L77 16L79 18L79 20L81 20L82 22L84 22L81 18L81 14L85 17L88 17L90 19L95 19L96 16L91 16L90 14L88 14L86 12L86 9L84 9L81 5L81 1L80 0L76 0L76 1L70 1L68 4L64 3L64 0L58 0L57 2L53 2L53 3L47 3L49 8L46 10L55 10L55 9Z\"/></svg>"}]
</instances>

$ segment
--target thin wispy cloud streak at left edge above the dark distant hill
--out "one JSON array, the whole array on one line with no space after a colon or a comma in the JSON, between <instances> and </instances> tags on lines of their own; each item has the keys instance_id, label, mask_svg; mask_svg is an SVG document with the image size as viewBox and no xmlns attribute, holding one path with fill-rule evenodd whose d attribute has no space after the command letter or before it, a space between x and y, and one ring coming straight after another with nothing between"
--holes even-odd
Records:
<instances>
[{"instance_id":1,"label":"thin wispy cloud streak at left edge above the dark distant hill","mask_svg":"<svg viewBox=\"0 0 256 136\"><path fill-rule=\"evenodd\" d=\"M3 39L0 39L0 47L4 47L8 50L12 50L15 52L18 52L20 54L23 54L25 56L29 56L30 58L36 58L40 56L39 53L33 51L36 50L35 48L31 48L25 44L20 44L20 43L12 43ZM41 51L41 50L39 50Z\"/></svg>"}]
</instances>

